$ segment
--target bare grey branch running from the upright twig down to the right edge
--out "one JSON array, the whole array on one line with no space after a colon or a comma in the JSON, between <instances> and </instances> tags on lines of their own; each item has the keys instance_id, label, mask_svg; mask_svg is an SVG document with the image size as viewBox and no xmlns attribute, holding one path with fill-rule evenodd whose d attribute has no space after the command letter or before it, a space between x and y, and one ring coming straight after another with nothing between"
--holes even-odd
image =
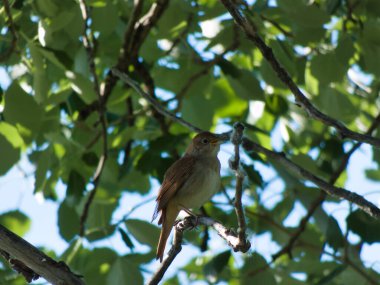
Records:
<instances>
[{"instance_id":1,"label":"bare grey branch running from the upright twig down to the right edge","mask_svg":"<svg viewBox=\"0 0 380 285\"><path fill-rule=\"evenodd\" d=\"M299 175L300 177L315 183L317 186L319 186L323 191L325 191L330 196L345 199L357 205L360 209L362 209L364 212L366 212L370 216L374 218L380 218L380 209L376 207L373 203L369 202L368 200L363 198L361 195L348 191L344 188L336 187L322 180L321 178L315 176L311 172L307 171L306 169L300 167L299 165L289 160L285 156L284 153L271 151L247 138L243 138L242 146L248 152L256 151L256 152L265 154L268 158L271 158L275 160L276 162L280 163L281 165L283 165L284 167L286 167L288 171L291 171Z\"/></svg>"}]
</instances>

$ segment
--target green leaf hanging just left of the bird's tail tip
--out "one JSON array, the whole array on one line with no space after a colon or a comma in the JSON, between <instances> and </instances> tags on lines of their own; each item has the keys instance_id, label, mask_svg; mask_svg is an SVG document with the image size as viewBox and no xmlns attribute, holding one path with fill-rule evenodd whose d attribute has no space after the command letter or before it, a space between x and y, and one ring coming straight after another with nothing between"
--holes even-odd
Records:
<instances>
[{"instance_id":1,"label":"green leaf hanging just left of the bird's tail tip","mask_svg":"<svg viewBox=\"0 0 380 285\"><path fill-rule=\"evenodd\" d=\"M157 246L160 230L156 226L142 220L129 219L125 222L128 232L140 243L154 248Z\"/></svg>"}]
</instances>

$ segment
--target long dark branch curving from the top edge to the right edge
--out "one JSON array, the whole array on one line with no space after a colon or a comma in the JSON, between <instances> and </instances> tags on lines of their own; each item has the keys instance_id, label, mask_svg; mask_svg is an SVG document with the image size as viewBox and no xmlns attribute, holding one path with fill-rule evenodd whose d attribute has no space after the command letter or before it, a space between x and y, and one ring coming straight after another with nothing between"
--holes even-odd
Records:
<instances>
[{"instance_id":1,"label":"long dark branch curving from the top edge to the right edge","mask_svg":"<svg viewBox=\"0 0 380 285\"><path fill-rule=\"evenodd\" d=\"M228 12L234 18L236 24L244 31L248 39L250 39L256 47L260 50L263 57L271 65L272 69L276 72L278 78L289 88L293 93L296 103L299 104L310 117L322 122L323 124L333 127L340 134L342 138L350 138L355 141L371 144L380 147L380 139L370 135L357 133L348 129L342 122L335 120L326 114L319 111L309 99L302 93L302 91L295 84L288 72L283 68L280 62L273 54L272 49L267 46L264 40L259 36L256 27L245 15L239 10L237 5L231 0L220 0L226 7Z\"/></svg>"}]
</instances>

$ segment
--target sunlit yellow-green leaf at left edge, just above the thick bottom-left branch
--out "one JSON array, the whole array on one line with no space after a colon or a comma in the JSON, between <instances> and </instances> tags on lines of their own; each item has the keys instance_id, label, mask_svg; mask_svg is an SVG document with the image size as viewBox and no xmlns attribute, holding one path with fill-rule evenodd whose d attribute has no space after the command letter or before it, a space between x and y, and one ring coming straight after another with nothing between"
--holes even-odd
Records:
<instances>
[{"instance_id":1,"label":"sunlit yellow-green leaf at left edge, just above the thick bottom-left branch","mask_svg":"<svg viewBox=\"0 0 380 285\"><path fill-rule=\"evenodd\" d=\"M28 216L20 211L10 211L0 215L0 224L19 236L24 236L31 226Z\"/></svg>"}]
</instances>

